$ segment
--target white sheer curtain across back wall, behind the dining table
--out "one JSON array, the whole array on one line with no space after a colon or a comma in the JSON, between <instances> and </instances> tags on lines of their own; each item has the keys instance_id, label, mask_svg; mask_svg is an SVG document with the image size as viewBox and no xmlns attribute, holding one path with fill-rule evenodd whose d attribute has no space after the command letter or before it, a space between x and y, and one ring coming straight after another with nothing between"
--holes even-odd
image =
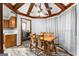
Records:
<instances>
[{"instance_id":1,"label":"white sheer curtain across back wall, behind the dining table","mask_svg":"<svg viewBox=\"0 0 79 59\"><path fill-rule=\"evenodd\" d=\"M40 33L40 32L55 33L56 19L57 17L32 20L32 32L33 33Z\"/></svg>"}]
</instances>

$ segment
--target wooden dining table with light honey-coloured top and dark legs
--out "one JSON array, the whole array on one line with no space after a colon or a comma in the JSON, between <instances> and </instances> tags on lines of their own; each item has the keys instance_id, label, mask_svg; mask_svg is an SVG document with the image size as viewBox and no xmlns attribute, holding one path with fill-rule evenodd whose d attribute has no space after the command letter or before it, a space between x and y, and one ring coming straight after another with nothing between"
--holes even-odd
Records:
<instances>
[{"instance_id":1,"label":"wooden dining table with light honey-coloured top and dark legs","mask_svg":"<svg viewBox=\"0 0 79 59\"><path fill-rule=\"evenodd\" d=\"M43 41L43 44L44 44L44 48L41 48L41 47L39 47L39 44L38 44L39 41L38 41L37 45L36 45L37 48L39 48L42 51L44 51L45 53L51 55L52 51L50 51L50 49L51 49L50 45L53 44L54 48L55 48L55 52L56 52L56 47L55 47L55 44L54 44L54 40L56 39L55 36L52 36L52 35L51 36L50 35L45 35L45 36L37 35L36 37L37 37L37 41L39 39L40 41Z\"/></svg>"}]
</instances>

